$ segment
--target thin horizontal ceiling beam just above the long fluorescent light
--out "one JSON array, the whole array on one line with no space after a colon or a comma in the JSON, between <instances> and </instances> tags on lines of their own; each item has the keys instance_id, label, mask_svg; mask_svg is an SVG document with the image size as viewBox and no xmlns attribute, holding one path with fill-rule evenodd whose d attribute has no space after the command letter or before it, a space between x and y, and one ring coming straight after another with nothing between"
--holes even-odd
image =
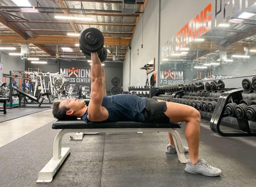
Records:
<instances>
[{"instance_id":1,"label":"thin horizontal ceiling beam just above the long fluorescent light","mask_svg":"<svg viewBox=\"0 0 256 187\"><path fill-rule=\"evenodd\" d=\"M5 10L6 12L10 12L10 13L24 13L24 10ZM96 10L97 12L97 10ZM38 10L38 12L33 12L33 14L36 13L43 13L43 14L58 14L59 16L61 16L61 14L63 13L62 11L50 11L50 10ZM92 15L92 16L117 16L117 17L138 17L140 14L112 14L112 13L91 13L91 12L84 12L83 14L80 14L78 12L72 12L72 11L68 11L68 14L72 14L72 15Z\"/></svg>"}]
</instances>

